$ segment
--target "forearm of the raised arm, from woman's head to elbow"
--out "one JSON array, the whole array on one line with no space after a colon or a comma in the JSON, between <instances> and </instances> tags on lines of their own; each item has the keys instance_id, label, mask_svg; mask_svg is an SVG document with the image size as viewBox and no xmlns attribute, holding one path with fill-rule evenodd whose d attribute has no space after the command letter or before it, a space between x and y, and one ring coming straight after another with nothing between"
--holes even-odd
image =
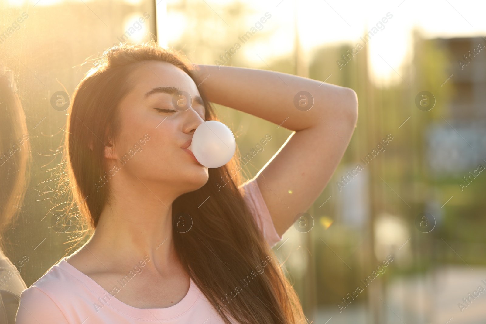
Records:
<instances>
[{"instance_id":1,"label":"forearm of the raised arm, from woman's head to elbow","mask_svg":"<svg viewBox=\"0 0 486 324\"><path fill-rule=\"evenodd\" d=\"M197 65L194 76L210 102L283 123L293 131L323 125L323 120L356 119L356 95L349 88L286 73L213 65ZM300 91L312 95L313 106L307 111L295 106Z\"/></svg>"}]
</instances>

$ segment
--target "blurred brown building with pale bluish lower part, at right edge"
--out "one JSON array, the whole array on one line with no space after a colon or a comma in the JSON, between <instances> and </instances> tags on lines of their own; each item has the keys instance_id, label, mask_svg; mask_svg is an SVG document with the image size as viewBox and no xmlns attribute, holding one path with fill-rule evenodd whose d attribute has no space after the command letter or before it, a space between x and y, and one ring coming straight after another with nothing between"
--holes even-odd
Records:
<instances>
[{"instance_id":1,"label":"blurred brown building with pale bluish lower part, at right edge","mask_svg":"<svg viewBox=\"0 0 486 324\"><path fill-rule=\"evenodd\" d=\"M438 176L463 178L479 164L486 167L486 39L428 41L449 53L449 66L445 68L450 79L446 82L453 89L447 116L429 128L429 167Z\"/></svg>"}]
</instances>

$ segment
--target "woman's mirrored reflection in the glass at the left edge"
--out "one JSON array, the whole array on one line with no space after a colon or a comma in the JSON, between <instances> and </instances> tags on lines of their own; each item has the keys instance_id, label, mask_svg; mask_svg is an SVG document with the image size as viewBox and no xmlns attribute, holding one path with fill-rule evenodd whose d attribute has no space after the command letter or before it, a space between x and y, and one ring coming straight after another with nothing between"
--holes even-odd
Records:
<instances>
[{"instance_id":1,"label":"woman's mirrored reflection in the glass at the left edge","mask_svg":"<svg viewBox=\"0 0 486 324\"><path fill-rule=\"evenodd\" d=\"M27 289L2 251L3 234L17 216L29 179L29 135L16 87L12 70L0 61L0 324L14 324L20 293Z\"/></svg>"}]
</instances>

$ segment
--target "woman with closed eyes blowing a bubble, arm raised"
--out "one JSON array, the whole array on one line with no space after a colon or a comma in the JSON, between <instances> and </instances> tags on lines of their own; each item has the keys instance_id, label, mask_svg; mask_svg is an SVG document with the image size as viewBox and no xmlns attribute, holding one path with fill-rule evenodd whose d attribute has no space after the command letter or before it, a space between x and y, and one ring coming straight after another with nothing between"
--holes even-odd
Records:
<instances>
[{"instance_id":1,"label":"woman with closed eyes blowing a bubble, arm raised","mask_svg":"<svg viewBox=\"0 0 486 324\"><path fill-rule=\"evenodd\" d=\"M300 91L311 109L295 105ZM242 185L236 158L208 169L187 150L216 120L209 102L295 132ZM344 154L353 90L125 44L105 51L68 112L65 174L94 233L22 293L18 324L305 321L270 247Z\"/></svg>"}]
</instances>

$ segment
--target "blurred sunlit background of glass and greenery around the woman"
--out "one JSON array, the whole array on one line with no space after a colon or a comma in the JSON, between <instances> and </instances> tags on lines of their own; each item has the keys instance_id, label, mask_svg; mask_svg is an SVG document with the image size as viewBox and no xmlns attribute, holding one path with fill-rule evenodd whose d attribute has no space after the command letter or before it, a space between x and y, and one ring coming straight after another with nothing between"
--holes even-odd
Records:
<instances>
[{"instance_id":1,"label":"blurred sunlit background of glass and greenery around the woman","mask_svg":"<svg viewBox=\"0 0 486 324\"><path fill-rule=\"evenodd\" d=\"M15 71L33 153L5 254L28 287L71 239L55 224L47 181L61 159L69 96L106 48L156 38L193 63L357 92L358 124L340 166L274 247L313 323L485 323L484 1L2 0L0 8L0 59ZM242 155L272 136L244 178L291 134L217 111Z\"/></svg>"}]
</instances>

